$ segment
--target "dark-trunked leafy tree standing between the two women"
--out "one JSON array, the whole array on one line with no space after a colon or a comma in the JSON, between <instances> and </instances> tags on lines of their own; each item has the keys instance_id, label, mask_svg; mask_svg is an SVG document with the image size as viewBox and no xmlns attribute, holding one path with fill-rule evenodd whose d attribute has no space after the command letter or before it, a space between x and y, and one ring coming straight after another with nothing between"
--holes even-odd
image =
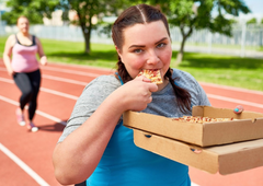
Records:
<instances>
[{"instance_id":1,"label":"dark-trunked leafy tree standing between the two women","mask_svg":"<svg viewBox=\"0 0 263 186\"><path fill-rule=\"evenodd\" d=\"M75 10L78 19L73 21L75 24L80 25L84 40L87 54L90 54L91 31L96 26L92 19L101 22L103 16L117 14L117 11L125 7L124 0L64 0L61 1L61 9L66 12Z\"/></svg>"}]
</instances>

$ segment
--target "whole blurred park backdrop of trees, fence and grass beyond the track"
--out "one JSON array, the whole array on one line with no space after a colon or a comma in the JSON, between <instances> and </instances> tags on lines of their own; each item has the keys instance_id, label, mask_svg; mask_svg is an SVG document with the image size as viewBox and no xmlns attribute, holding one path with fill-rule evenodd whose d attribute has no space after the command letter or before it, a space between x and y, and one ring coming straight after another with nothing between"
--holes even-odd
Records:
<instances>
[{"instance_id":1,"label":"whole blurred park backdrop of trees, fence and grass beyond the track","mask_svg":"<svg viewBox=\"0 0 263 186\"><path fill-rule=\"evenodd\" d=\"M111 26L124 9L137 3L156 5L167 15L172 68L202 82L263 91L259 0L0 0L0 50L18 32L18 16L25 15L49 61L115 68Z\"/></svg>"}]
</instances>

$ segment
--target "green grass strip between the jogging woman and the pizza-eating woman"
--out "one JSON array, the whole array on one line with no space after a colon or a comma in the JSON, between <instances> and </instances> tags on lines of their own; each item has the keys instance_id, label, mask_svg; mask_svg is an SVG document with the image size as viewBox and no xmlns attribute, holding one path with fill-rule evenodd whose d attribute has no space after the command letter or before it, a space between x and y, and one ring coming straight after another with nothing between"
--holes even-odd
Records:
<instances>
[{"instance_id":1,"label":"green grass strip between the jogging woman and the pizza-eating woman","mask_svg":"<svg viewBox=\"0 0 263 186\"><path fill-rule=\"evenodd\" d=\"M42 39L49 61L114 68L117 55L112 45L92 44L92 53L84 54L84 44Z\"/></svg>"}]
</instances>

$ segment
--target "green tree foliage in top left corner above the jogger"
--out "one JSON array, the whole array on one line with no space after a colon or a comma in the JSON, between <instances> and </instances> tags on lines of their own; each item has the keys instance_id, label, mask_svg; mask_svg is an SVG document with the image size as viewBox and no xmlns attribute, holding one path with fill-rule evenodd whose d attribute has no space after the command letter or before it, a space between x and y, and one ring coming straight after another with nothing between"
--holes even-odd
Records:
<instances>
[{"instance_id":1,"label":"green tree foliage in top left corner above the jogger","mask_svg":"<svg viewBox=\"0 0 263 186\"><path fill-rule=\"evenodd\" d=\"M11 10L3 13L2 20L8 24L16 24L18 18L25 15L31 24L43 23L43 16L50 19L58 3L59 0L9 0L7 7Z\"/></svg>"}]
</instances>

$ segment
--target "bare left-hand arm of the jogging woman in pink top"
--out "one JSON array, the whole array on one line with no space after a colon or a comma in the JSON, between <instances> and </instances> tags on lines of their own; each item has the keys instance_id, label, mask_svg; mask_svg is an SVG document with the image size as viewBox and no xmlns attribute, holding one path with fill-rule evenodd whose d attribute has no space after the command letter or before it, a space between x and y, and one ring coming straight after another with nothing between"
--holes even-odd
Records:
<instances>
[{"instance_id":1,"label":"bare left-hand arm of the jogging woman in pink top","mask_svg":"<svg viewBox=\"0 0 263 186\"><path fill-rule=\"evenodd\" d=\"M11 66L11 55L12 55L14 43L15 43L14 35L9 36L5 42L4 51L3 51L3 62L10 75L14 73L13 68Z\"/></svg>"}]
</instances>

